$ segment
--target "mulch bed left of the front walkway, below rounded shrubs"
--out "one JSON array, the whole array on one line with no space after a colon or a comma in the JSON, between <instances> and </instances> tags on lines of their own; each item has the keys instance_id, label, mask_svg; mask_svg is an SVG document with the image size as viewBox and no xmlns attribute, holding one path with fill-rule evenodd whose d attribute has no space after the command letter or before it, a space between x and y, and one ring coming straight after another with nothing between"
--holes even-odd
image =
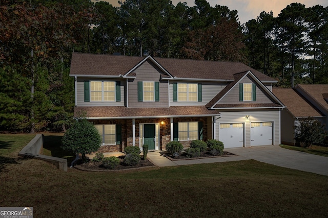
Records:
<instances>
[{"instance_id":1,"label":"mulch bed left of the front walkway, below rounded shrubs","mask_svg":"<svg viewBox=\"0 0 328 218\"><path fill-rule=\"evenodd\" d=\"M124 164L124 157L125 156L119 156L120 163L118 166L116 166L114 169L107 169L103 166L101 166L101 162L89 162L89 163L82 163L81 161L78 162L75 167L78 169L81 169L83 171L122 171L122 170L128 170L128 169L135 169L135 168L144 168L144 167L153 167L155 166L150 160L141 160L137 165L134 166L127 166Z\"/></svg>"}]
</instances>

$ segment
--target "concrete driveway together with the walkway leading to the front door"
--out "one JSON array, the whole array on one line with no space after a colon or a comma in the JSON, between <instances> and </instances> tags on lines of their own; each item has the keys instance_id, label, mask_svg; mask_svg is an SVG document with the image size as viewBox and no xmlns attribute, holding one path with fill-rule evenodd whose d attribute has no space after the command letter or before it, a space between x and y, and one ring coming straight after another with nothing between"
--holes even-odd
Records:
<instances>
[{"instance_id":1,"label":"concrete driveway together with the walkway leading to the front door","mask_svg":"<svg viewBox=\"0 0 328 218\"><path fill-rule=\"evenodd\" d=\"M154 151L148 153L148 158L157 166L177 166L254 159L277 166L328 176L328 157L283 149L280 146L235 148L225 149L224 151L231 152L238 156L171 161L161 155L160 151Z\"/></svg>"}]
</instances>

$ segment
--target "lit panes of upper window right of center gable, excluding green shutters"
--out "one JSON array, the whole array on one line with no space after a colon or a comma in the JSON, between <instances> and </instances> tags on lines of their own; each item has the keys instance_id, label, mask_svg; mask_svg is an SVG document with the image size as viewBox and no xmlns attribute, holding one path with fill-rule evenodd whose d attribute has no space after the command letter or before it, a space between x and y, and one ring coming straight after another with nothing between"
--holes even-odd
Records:
<instances>
[{"instance_id":1,"label":"lit panes of upper window right of center gable, excluding green shutters","mask_svg":"<svg viewBox=\"0 0 328 218\"><path fill-rule=\"evenodd\" d=\"M196 83L178 83L178 102L197 102Z\"/></svg>"}]
</instances>

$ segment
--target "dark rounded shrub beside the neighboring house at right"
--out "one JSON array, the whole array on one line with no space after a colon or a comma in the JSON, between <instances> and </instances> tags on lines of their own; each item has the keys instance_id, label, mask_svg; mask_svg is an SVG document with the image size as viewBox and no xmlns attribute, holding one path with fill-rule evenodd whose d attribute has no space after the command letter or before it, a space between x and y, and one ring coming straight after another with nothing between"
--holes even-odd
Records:
<instances>
[{"instance_id":1,"label":"dark rounded shrub beside the neighboring house at right","mask_svg":"<svg viewBox=\"0 0 328 218\"><path fill-rule=\"evenodd\" d=\"M311 117L299 120L299 125L294 126L294 129L295 139L305 148L315 142L323 142L327 134L321 122Z\"/></svg>"}]
</instances>

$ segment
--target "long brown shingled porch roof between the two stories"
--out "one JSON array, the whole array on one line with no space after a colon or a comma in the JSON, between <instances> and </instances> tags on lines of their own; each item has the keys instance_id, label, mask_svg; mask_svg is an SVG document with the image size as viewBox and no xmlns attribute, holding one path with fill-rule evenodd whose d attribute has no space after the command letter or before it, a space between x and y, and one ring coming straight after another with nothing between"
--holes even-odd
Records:
<instances>
[{"instance_id":1,"label":"long brown shingled porch roof between the two stories","mask_svg":"<svg viewBox=\"0 0 328 218\"><path fill-rule=\"evenodd\" d=\"M74 117L86 113L92 118L139 118L139 117L187 117L213 116L220 114L216 110L208 110L204 106L171 106L165 108L127 108L118 107L75 107Z\"/></svg>"}]
</instances>

